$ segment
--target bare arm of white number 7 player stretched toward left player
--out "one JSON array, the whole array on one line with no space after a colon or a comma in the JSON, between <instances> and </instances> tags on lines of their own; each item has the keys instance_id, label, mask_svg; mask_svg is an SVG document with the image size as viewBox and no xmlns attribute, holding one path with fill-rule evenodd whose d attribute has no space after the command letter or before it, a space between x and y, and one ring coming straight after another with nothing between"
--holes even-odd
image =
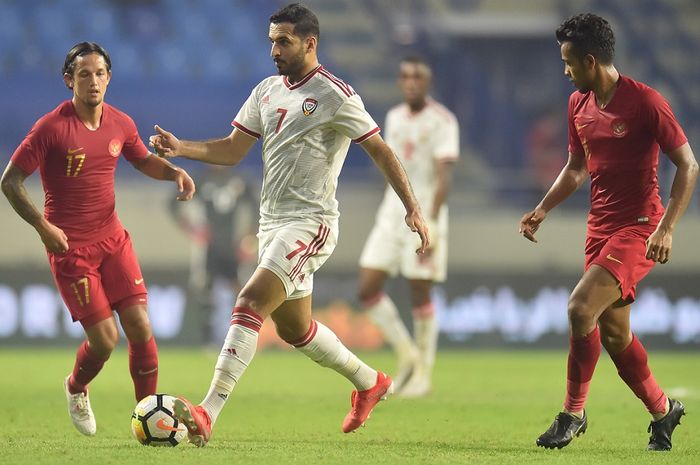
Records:
<instances>
[{"instance_id":1,"label":"bare arm of white number 7 player stretched toward left player","mask_svg":"<svg viewBox=\"0 0 700 465\"><path fill-rule=\"evenodd\" d=\"M253 147L256 138L234 129L228 137L209 141L180 140L172 132L157 124L156 133L149 137L149 144L156 153L165 158L185 157L212 165L235 165Z\"/></svg>"}]
</instances>

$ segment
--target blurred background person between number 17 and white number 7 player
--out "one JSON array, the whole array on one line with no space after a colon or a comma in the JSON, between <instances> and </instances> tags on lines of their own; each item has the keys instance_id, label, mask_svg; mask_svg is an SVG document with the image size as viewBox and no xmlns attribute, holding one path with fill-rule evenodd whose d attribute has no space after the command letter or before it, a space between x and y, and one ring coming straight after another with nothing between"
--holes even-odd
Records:
<instances>
[{"instance_id":1,"label":"blurred background person between number 17 and white number 7 player","mask_svg":"<svg viewBox=\"0 0 700 465\"><path fill-rule=\"evenodd\" d=\"M247 244L255 243L257 205L246 179L227 167L208 165L195 179L197 196L173 199L171 211L192 243L190 289L202 311L204 341L218 344L226 331L219 322L229 320L241 288L239 267L252 259Z\"/></svg>"}]
</instances>

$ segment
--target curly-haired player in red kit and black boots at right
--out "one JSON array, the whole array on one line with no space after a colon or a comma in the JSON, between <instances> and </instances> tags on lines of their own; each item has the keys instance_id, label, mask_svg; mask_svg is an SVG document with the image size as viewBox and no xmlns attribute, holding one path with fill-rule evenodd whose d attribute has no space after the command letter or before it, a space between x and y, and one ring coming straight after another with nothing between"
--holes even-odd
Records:
<instances>
[{"instance_id":1,"label":"curly-haired player in red kit and black boots at right","mask_svg":"<svg viewBox=\"0 0 700 465\"><path fill-rule=\"evenodd\" d=\"M622 380L652 416L648 450L670 450L685 414L668 398L630 330L636 286L671 258L676 223L685 211L698 164L668 102L651 87L620 75L615 38L594 14L566 20L556 32L564 74L578 92L569 98L569 160L539 205L523 215L520 233L535 232L547 213L591 179L585 272L569 298L569 362L564 410L537 445L562 448L586 431L584 410L600 345ZM676 166L668 205L659 197L659 148Z\"/></svg>"}]
</instances>

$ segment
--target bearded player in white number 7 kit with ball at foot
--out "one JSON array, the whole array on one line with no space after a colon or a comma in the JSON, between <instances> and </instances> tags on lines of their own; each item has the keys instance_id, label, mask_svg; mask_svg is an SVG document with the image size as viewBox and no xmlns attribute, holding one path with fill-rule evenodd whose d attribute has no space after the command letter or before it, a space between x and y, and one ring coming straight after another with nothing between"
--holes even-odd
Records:
<instances>
[{"instance_id":1,"label":"bearded player in white number 7 kit with ball at foot","mask_svg":"<svg viewBox=\"0 0 700 465\"><path fill-rule=\"evenodd\" d=\"M180 398L174 406L196 446L209 441L212 425L253 358L268 316L283 340L354 384L344 432L359 428L379 400L392 393L389 376L359 360L311 317L313 274L338 237L335 190L351 140L361 144L401 198L404 221L421 238L416 252L429 246L427 225L401 163L352 87L318 63L316 16L298 4L284 7L270 17L269 38L280 76L253 89L228 137L184 141L156 126L150 139L161 156L222 165L240 162L257 139L263 144L259 265L236 299L206 397L199 405Z\"/></svg>"}]
</instances>

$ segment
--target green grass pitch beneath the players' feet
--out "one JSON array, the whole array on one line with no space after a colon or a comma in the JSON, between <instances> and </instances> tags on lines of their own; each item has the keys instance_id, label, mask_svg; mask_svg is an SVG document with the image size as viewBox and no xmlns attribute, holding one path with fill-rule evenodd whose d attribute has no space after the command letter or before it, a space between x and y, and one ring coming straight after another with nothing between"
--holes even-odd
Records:
<instances>
[{"instance_id":1,"label":"green grass pitch beneath the players' feet","mask_svg":"<svg viewBox=\"0 0 700 465\"><path fill-rule=\"evenodd\" d=\"M364 354L390 369L389 353ZM3 399L0 462L5 464L698 464L700 463L700 355L653 353L658 380L676 392L689 414L669 453L648 453L649 419L619 380L606 355L591 388L588 432L559 451L535 447L535 438L563 399L563 352L443 352L434 393L392 398L366 428L340 431L350 385L300 354L259 353L219 417L211 443L196 449L138 444L129 429L133 408L125 350L112 356L91 385L98 433L81 436L68 418L63 377L73 351L0 352ZM199 400L216 354L164 348L159 391Z\"/></svg>"}]
</instances>

